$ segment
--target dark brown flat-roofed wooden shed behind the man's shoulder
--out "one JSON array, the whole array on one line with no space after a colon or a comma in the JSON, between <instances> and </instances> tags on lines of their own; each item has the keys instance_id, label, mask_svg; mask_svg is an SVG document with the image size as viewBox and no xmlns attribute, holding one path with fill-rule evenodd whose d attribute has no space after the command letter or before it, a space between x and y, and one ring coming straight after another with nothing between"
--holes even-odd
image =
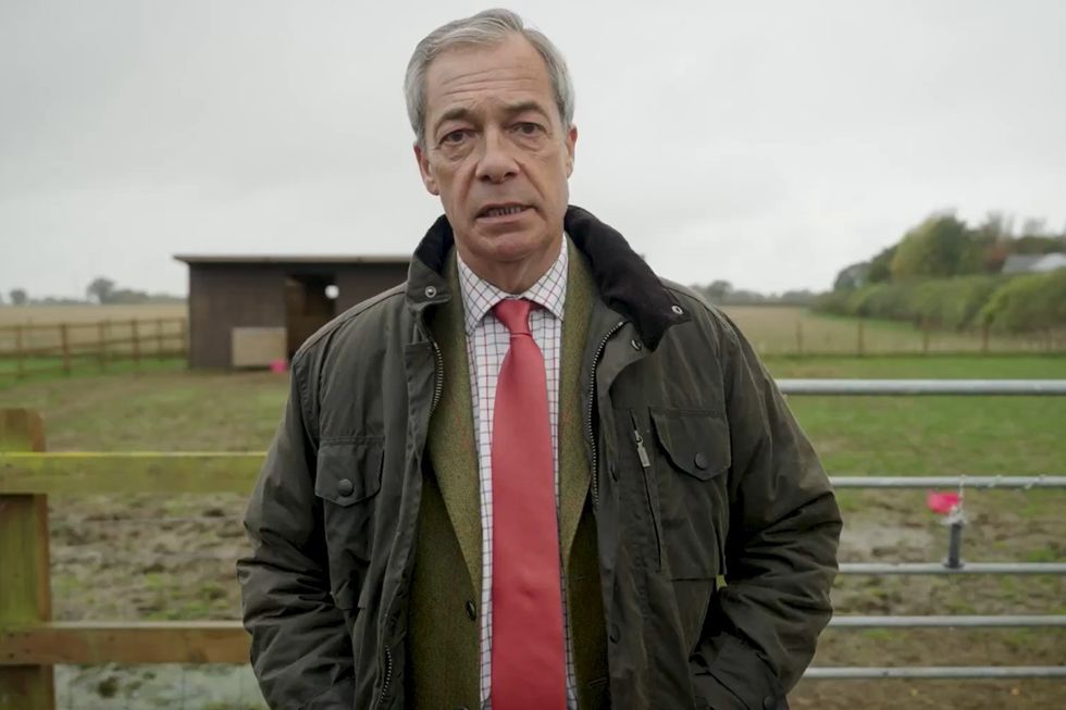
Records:
<instances>
[{"instance_id":1,"label":"dark brown flat-roofed wooden shed behind the man's shoulder","mask_svg":"<svg viewBox=\"0 0 1066 710\"><path fill-rule=\"evenodd\" d=\"M407 278L410 257L177 254L189 266L189 366L293 357L333 316Z\"/></svg>"}]
</instances>

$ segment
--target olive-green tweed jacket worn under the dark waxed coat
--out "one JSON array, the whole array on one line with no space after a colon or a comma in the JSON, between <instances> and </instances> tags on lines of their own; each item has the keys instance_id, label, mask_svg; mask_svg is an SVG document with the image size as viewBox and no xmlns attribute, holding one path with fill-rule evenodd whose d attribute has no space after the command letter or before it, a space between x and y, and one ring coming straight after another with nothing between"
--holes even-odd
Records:
<instances>
[{"instance_id":1,"label":"olive-green tweed jacket worn under the dark waxed coat","mask_svg":"<svg viewBox=\"0 0 1066 710\"><path fill-rule=\"evenodd\" d=\"M607 656L590 471L582 433L579 378L595 282L567 240L570 265L562 323L559 391L559 519L573 643L578 705L607 707ZM434 339L444 359L444 389L430 421L407 643L409 706L480 707L479 615L482 586L478 450L470 368L456 257L445 273L451 299L436 312Z\"/></svg>"}]
</instances>

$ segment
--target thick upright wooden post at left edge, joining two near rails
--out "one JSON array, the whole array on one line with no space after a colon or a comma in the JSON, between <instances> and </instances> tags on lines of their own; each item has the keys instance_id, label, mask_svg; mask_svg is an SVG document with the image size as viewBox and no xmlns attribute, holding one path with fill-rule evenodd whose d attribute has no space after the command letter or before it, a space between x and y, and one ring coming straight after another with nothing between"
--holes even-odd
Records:
<instances>
[{"instance_id":1,"label":"thick upright wooden post at left edge, joining two near rails","mask_svg":"<svg viewBox=\"0 0 1066 710\"><path fill-rule=\"evenodd\" d=\"M0 451L44 451L40 414L0 410ZM0 628L48 622L52 595L48 566L48 497L0 494ZM54 710L51 665L0 665L0 709Z\"/></svg>"}]
</instances>

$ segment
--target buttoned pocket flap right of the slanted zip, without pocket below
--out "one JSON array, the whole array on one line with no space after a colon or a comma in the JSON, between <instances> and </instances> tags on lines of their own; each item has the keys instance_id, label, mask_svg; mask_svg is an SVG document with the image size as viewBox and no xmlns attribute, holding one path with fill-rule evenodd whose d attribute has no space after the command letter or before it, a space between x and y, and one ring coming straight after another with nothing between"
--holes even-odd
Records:
<instances>
[{"instance_id":1,"label":"buttoned pocket flap right of the slanted zip, without pocket below","mask_svg":"<svg viewBox=\"0 0 1066 710\"><path fill-rule=\"evenodd\" d=\"M729 426L721 416L681 409L650 412L655 435L674 466L701 481L729 470Z\"/></svg>"}]
</instances>

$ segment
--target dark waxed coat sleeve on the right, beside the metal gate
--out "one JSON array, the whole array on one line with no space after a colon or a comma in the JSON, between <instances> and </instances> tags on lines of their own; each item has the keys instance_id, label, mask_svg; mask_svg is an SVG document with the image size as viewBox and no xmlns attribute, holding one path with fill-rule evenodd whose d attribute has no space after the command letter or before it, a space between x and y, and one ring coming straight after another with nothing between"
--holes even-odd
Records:
<instances>
[{"instance_id":1,"label":"dark waxed coat sleeve on the right, beside the metal gate","mask_svg":"<svg viewBox=\"0 0 1066 710\"><path fill-rule=\"evenodd\" d=\"M751 345L735 326L721 342L732 450L726 586L691 664L696 695L715 710L782 710L832 614L841 516L814 448Z\"/></svg>"}]
</instances>

